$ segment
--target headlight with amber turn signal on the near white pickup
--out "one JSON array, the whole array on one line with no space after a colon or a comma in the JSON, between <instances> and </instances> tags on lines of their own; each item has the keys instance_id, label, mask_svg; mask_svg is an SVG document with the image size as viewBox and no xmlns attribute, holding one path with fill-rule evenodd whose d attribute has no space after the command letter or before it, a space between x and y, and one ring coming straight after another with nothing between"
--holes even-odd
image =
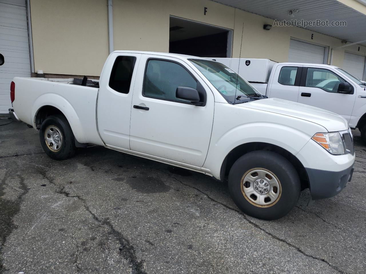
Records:
<instances>
[{"instance_id":1,"label":"headlight with amber turn signal on the near white pickup","mask_svg":"<svg viewBox=\"0 0 366 274\"><path fill-rule=\"evenodd\" d=\"M317 133L311 139L333 155L344 154L344 143L339 132Z\"/></svg>"}]
</instances>

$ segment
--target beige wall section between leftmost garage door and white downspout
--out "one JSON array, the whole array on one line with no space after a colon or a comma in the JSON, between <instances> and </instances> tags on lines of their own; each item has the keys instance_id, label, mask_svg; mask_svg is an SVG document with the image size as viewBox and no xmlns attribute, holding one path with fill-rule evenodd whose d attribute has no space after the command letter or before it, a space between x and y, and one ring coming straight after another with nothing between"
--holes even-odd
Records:
<instances>
[{"instance_id":1,"label":"beige wall section between leftmost garage door and white downspout","mask_svg":"<svg viewBox=\"0 0 366 274\"><path fill-rule=\"evenodd\" d=\"M107 0L30 0L35 71L100 75L108 56Z\"/></svg>"}]
</instances>

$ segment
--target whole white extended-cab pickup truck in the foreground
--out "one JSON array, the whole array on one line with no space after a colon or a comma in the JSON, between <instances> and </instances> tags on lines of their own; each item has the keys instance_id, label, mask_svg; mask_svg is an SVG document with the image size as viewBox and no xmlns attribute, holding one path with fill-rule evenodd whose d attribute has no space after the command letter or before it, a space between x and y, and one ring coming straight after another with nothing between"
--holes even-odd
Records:
<instances>
[{"instance_id":1,"label":"whole white extended-cab pickup truck in the foreground","mask_svg":"<svg viewBox=\"0 0 366 274\"><path fill-rule=\"evenodd\" d=\"M346 119L266 99L204 58L115 51L99 87L15 77L10 93L10 114L39 130L53 159L91 143L218 180L228 175L236 205L257 218L284 216L302 189L313 199L332 197L352 176Z\"/></svg>"}]
</instances>

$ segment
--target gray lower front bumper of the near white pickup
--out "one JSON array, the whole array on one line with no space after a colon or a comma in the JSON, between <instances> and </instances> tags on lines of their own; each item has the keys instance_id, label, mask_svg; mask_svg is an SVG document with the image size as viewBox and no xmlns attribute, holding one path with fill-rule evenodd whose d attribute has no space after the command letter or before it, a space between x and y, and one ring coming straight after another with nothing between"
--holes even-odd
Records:
<instances>
[{"instance_id":1,"label":"gray lower front bumper of the near white pickup","mask_svg":"<svg viewBox=\"0 0 366 274\"><path fill-rule=\"evenodd\" d=\"M316 170L305 168L309 177L310 193L313 200L330 198L340 193L351 181L353 164L342 171Z\"/></svg>"}]
</instances>

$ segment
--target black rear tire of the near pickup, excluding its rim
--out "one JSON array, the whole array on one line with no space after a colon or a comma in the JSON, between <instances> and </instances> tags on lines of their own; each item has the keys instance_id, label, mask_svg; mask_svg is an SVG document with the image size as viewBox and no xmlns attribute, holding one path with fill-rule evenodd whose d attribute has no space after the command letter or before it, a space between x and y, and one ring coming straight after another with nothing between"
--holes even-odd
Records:
<instances>
[{"instance_id":1,"label":"black rear tire of the near pickup, excluding its rim","mask_svg":"<svg viewBox=\"0 0 366 274\"><path fill-rule=\"evenodd\" d=\"M50 127L55 126L61 133L60 146L57 146L57 150L53 151L49 145L46 144L45 131ZM55 160L66 160L75 155L75 137L72 133L71 127L67 119L63 115L52 115L47 117L40 128L40 141L45 153Z\"/></svg>"}]
</instances>

